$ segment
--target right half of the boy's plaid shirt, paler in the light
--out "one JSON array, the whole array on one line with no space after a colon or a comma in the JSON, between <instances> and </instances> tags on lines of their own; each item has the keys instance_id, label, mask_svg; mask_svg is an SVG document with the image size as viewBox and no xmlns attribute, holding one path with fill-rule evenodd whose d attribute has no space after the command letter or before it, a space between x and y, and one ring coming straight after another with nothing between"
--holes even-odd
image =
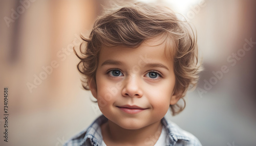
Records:
<instances>
[{"instance_id":1,"label":"right half of the boy's plaid shirt, paler in the light","mask_svg":"<svg viewBox=\"0 0 256 146\"><path fill-rule=\"evenodd\" d=\"M196 136L193 134L181 129L177 124L173 123L166 118L162 119L162 124L164 125L166 132L169 135L170 143L175 145L195 145L201 146L202 144Z\"/></svg>"}]
</instances>

